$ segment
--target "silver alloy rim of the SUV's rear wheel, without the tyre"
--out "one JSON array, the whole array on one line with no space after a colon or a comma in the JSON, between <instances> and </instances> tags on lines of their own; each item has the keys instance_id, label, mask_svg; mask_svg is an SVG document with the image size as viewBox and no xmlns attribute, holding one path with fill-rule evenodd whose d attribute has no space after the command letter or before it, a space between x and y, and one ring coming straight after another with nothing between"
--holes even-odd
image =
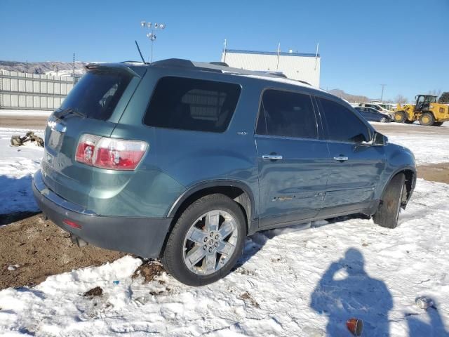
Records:
<instances>
[{"instance_id":1,"label":"silver alloy rim of the SUV's rear wheel, without the tyre","mask_svg":"<svg viewBox=\"0 0 449 337\"><path fill-rule=\"evenodd\" d=\"M231 258L238 237L236 220L227 211L203 214L192 224L184 239L185 265L197 275L217 272Z\"/></svg>"}]
</instances>

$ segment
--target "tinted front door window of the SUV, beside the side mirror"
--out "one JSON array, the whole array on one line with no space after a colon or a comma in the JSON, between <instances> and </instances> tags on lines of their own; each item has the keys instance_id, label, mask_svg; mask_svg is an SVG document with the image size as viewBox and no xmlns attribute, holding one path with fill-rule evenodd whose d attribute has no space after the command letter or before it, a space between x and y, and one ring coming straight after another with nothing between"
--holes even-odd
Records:
<instances>
[{"instance_id":1,"label":"tinted front door window of the SUV, beside the side mirror","mask_svg":"<svg viewBox=\"0 0 449 337\"><path fill-rule=\"evenodd\" d=\"M354 112L340 103L324 98L317 99L320 110L326 117L328 139L340 142L361 143L370 140L370 133L365 124Z\"/></svg>"}]
</instances>

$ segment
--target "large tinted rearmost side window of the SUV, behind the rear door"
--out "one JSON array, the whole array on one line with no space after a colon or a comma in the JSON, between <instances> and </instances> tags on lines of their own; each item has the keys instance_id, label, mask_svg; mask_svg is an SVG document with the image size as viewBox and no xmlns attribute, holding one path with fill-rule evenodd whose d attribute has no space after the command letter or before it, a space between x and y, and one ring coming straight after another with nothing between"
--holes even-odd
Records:
<instances>
[{"instance_id":1,"label":"large tinted rearmost side window of the SUV, behind the rear door","mask_svg":"<svg viewBox=\"0 0 449 337\"><path fill-rule=\"evenodd\" d=\"M236 109L241 87L203 79L163 77L144 123L160 128L223 132Z\"/></svg>"}]
</instances>

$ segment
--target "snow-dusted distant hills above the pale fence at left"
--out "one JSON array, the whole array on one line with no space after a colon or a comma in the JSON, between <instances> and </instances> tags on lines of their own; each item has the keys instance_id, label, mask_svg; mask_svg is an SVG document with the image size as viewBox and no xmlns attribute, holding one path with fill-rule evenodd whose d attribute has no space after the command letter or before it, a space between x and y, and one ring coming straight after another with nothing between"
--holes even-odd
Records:
<instances>
[{"instance_id":1,"label":"snow-dusted distant hills above the pale fence at left","mask_svg":"<svg viewBox=\"0 0 449 337\"><path fill-rule=\"evenodd\" d=\"M84 62L75 62L75 74L83 74ZM32 74L46 74L58 76L72 74L72 62L18 62L18 61L0 61L0 69L9 70L11 72L28 72Z\"/></svg>"}]
</instances>

